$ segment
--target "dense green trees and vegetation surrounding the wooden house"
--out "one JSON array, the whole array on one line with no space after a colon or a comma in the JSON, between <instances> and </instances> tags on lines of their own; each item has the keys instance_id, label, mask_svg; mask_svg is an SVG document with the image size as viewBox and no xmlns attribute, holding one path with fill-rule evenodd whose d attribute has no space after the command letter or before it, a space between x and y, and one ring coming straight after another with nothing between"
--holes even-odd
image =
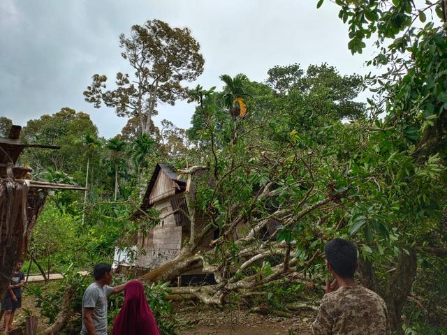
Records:
<instances>
[{"instance_id":1,"label":"dense green trees and vegetation surrounding the wooden house","mask_svg":"<svg viewBox=\"0 0 447 335\"><path fill-rule=\"evenodd\" d=\"M278 296L289 295L287 288L321 293L323 245L345 237L358 244L359 280L386 300L393 330L441 334L447 325L445 3L335 3L349 24L353 54L376 38L379 53L368 63L375 75L291 64L272 67L265 82L221 75L222 91L186 89L184 81L203 69L189 30L156 20L134 26L131 38L120 36L135 78L145 79L119 73L117 88L105 91L106 78L94 75L85 97L130 117L122 133L98 137L88 114L68 107L30 120L22 132L25 142L61 146L27 151L23 160L34 177L89 187L86 194L50 195L31 254L54 271L73 271L110 259L117 245L131 245L136 233L156 223L156 217L133 223L129 215L154 165L165 161L196 181L188 199L191 224L198 211L210 223L191 228L179 257L149 272L149 283L200 266L217 284L177 294L221 306L257 291L280 308ZM157 29L161 37L153 34ZM183 64L172 57L175 50L160 47L175 38L185 46ZM362 103L358 94L365 88L372 94ZM178 97L196 104L191 128L170 121L155 126L157 103ZM0 130L10 124L0 121ZM216 229L213 248L199 253ZM157 301L167 318L168 307Z\"/></svg>"}]
</instances>

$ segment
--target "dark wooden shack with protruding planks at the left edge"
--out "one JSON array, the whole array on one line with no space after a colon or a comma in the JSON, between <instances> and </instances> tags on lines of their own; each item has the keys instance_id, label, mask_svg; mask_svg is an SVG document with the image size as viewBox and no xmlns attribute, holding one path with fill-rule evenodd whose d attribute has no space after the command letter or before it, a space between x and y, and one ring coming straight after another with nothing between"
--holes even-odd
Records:
<instances>
[{"instance_id":1,"label":"dark wooden shack with protruding planks at the left edge","mask_svg":"<svg viewBox=\"0 0 447 335\"><path fill-rule=\"evenodd\" d=\"M16 166L24 148L59 149L20 141L22 127L12 126L0 137L0 297L3 297L15 262L27 248L27 239L43 208L48 188L85 190L80 186L29 179L30 168Z\"/></svg>"}]
</instances>

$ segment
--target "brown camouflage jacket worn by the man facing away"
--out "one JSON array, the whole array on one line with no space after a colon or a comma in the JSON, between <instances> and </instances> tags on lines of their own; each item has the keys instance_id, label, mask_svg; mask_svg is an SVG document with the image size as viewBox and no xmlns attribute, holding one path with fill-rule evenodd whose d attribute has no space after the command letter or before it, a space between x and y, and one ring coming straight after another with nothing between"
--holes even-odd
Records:
<instances>
[{"instance_id":1,"label":"brown camouflage jacket worn by the man facing away","mask_svg":"<svg viewBox=\"0 0 447 335\"><path fill-rule=\"evenodd\" d=\"M388 335L386 304L375 292L362 286L343 286L321 300L315 335Z\"/></svg>"}]
</instances>

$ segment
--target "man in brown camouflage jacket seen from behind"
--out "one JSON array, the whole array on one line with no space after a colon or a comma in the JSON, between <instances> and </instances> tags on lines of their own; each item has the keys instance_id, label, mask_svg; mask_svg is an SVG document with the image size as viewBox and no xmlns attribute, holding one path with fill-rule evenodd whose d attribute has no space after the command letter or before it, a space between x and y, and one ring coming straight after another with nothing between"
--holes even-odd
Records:
<instances>
[{"instance_id":1,"label":"man in brown camouflage jacket seen from behind","mask_svg":"<svg viewBox=\"0 0 447 335\"><path fill-rule=\"evenodd\" d=\"M358 268L356 246L344 239L333 239L324 251L335 280L326 282L326 294L312 324L314 334L390 334L385 301L354 280Z\"/></svg>"}]
</instances>

